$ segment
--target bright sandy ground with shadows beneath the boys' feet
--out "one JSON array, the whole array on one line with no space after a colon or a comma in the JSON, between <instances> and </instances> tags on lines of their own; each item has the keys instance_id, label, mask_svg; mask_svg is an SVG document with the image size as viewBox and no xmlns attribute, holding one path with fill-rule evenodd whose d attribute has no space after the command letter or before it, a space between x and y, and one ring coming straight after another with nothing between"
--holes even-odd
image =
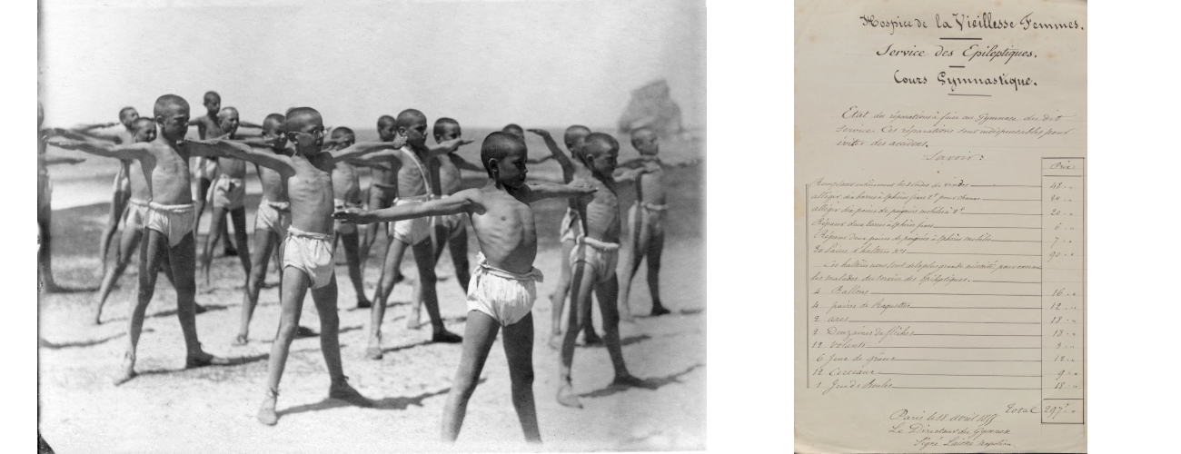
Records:
<instances>
[{"instance_id":1,"label":"bright sandy ground with shadows beneath the boys' feet","mask_svg":"<svg viewBox=\"0 0 1181 454\"><path fill-rule=\"evenodd\" d=\"M692 191L676 197L696 200L703 191L698 175L687 176ZM621 195L624 196L624 195ZM676 202L676 200L674 200ZM687 202L687 200L685 200ZM699 224L698 202L671 221ZM248 206L256 202L248 202ZM628 202L629 204L629 202ZM626 206L626 205L625 205ZM674 205L678 206L678 205ZM105 205L54 212L54 269L67 285L97 285L97 230ZM537 413L544 450L689 450L705 447L705 243L699 225L670 226L661 271L666 305L683 312L639 318L621 324L624 355L642 388L612 388L612 367L603 348L579 348L574 362L575 390L585 409L556 403L557 353L546 340L550 304L546 295L556 284L560 250L556 228L543 226L560 205L539 208L539 230L546 238L536 267L547 275L534 307L534 363ZM678 219L679 218L679 219ZM250 215L253 222L253 213ZM544 221L549 222L549 221ZM555 230L554 232L544 232ZM203 230L202 230L203 231ZM673 235L676 233L676 235ZM217 248L218 251L221 248ZM475 248L471 249L475 254ZM58 254L58 251L64 251ZM220 252L218 252L220 254ZM342 256L342 254L338 254ZM403 270L413 279L411 255ZM366 269L366 294L377 281L378 262ZM385 358L364 358L367 310L351 310L355 294L338 262L340 341L345 374L377 408L358 408L327 400L328 376L317 338L296 340L280 388L280 421L265 427L254 420L262 397L266 358L278 325L278 290L263 289L252 324L250 343L230 347L242 298L242 271L236 257L214 261L214 283L198 282L197 302L211 310L197 316L207 351L237 358L236 366L183 369L184 347L175 317L175 292L161 278L139 343L139 377L113 387L126 344L128 302L135 291L135 267L110 298L102 325L87 324L96 292L44 295L40 301L40 433L58 453L201 452L201 453L350 453L449 449L438 445L446 393L459 361L459 344L429 343L429 329L406 329L411 285L396 287L384 325ZM633 308L651 307L645 267L633 285ZM448 328L463 333L465 304L450 258L438 267L438 295ZM268 284L278 282L276 275ZM409 282L409 281L407 281ZM423 318L425 321L425 315ZM318 327L308 298L301 324ZM596 327L601 324L596 314ZM503 349L492 347L483 382L468 407L458 450L524 450L509 397Z\"/></svg>"}]
</instances>

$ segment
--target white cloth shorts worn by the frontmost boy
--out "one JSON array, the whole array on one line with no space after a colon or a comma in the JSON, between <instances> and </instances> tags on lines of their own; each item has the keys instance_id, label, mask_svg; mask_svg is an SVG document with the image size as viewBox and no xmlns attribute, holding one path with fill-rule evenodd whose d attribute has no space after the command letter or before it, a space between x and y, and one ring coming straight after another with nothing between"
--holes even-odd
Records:
<instances>
[{"instance_id":1,"label":"white cloth shorts worn by the frontmost boy","mask_svg":"<svg viewBox=\"0 0 1181 454\"><path fill-rule=\"evenodd\" d=\"M527 274L509 272L488 265L484 254L476 256L476 271L468 285L468 310L488 314L502 327L524 318L533 310L537 298L537 282L543 279L541 270L534 268Z\"/></svg>"}]
</instances>

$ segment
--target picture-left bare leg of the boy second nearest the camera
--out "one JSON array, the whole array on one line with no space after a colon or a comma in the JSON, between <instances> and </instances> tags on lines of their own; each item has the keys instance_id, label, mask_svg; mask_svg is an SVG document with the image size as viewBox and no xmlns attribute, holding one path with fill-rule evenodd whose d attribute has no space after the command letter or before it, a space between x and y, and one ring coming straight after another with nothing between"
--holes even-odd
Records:
<instances>
[{"instance_id":1,"label":"picture-left bare leg of the boy second nearest the camera","mask_svg":"<svg viewBox=\"0 0 1181 454\"><path fill-rule=\"evenodd\" d=\"M282 269L280 283L280 304L282 307L279 315L279 330L275 333L275 341L270 344L270 358L267 361L267 389L262 407L259 408L259 422L274 426L279 420L275 414L275 403L279 397L279 380L283 376L283 367L287 366L287 353L291 350L292 341L295 338L295 327L299 327L299 316L304 311L304 296L307 295L308 276L304 271L294 268ZM322 315L321 315L322 317Z\"/></svg>"}]
</instances>

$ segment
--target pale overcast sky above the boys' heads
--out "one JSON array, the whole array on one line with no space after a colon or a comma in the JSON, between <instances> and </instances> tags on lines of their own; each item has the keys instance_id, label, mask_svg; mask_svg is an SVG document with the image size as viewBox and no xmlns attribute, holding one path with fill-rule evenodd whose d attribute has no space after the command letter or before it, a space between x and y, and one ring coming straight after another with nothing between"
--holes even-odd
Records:
<instances>
[{"instance_id":1,"label":"pale overcast sky above the boys' heads","mask_svg":"<svg viewBox=\"0 0 1181 454\"><path fill-rule=\"evenodd\" d=\"M224 4L224 5L218 5ZM200 6L198 6L200 5ZM705 123L700 1L44 0L46 125L150 114L214 90L243 119L309 105L373 127L416 107L471 126L612 126L629 92L667 79Z\"/></svg>"}]
</instances>

